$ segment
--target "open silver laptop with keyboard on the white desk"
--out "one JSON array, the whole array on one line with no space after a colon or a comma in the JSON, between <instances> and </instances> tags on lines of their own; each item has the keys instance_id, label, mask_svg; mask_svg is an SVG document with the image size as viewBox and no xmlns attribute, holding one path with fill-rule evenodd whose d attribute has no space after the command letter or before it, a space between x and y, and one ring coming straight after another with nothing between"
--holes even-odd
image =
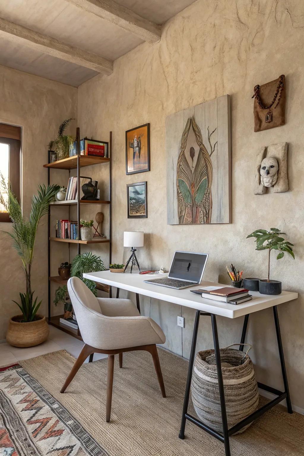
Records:
<instances>
[{"instance_id":1,"label":"open silver laptop with keyboard on the white desk","mask_svg":"<svg viewBox=\"0 0 304 456\"><path fill-rule=\"evenodd\" d=\"M207 258L208 254L175 252L168 277L163 279L144 280L144 282L175 288L176 290L198 285L201 283Z\"/></svg>"}]
</instances>

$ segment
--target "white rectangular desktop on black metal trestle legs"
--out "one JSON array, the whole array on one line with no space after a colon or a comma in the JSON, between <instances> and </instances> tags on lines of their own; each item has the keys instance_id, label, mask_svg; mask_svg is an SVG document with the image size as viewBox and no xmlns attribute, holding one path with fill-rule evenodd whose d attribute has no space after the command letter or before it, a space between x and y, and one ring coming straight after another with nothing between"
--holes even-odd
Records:
<instances>
[{"instance_id":1,"label":"white rectangular desktop on black metal trestle legs","mask_svg":"<svg viewBox=\"0 0 304 456\"><path fill-rule=\"evenodd\" d=\"M244 316L252 312L267 309L268 307L283 304L283 302L292 301L298 297L298 293L291 291L282 291L280 295L261 295L258 291L249 291L249 294L252 295L251 301L244 302L243 304L233 305L203 299L201 295L196 295L190 292L190 290L203 288L204 286L222 285L215 282L206 282L203 280L200 285L183 288L182 290L175 290L174 288L166 288L163 286L147 284L144 282L144 280L167 277L167 274L139 275L137 272L129 274L100 271L83 274L83 277L86 279L94 280L98 283L121 288L122 290L133 291L134 293L139 293L139 295L149 296L161 301L172 302L174 304L191 307L192 309L200 310L203 312L210 312L215 315L226 316L228 318L237 318L239 316Z\"/></svg>"}]
</instances>

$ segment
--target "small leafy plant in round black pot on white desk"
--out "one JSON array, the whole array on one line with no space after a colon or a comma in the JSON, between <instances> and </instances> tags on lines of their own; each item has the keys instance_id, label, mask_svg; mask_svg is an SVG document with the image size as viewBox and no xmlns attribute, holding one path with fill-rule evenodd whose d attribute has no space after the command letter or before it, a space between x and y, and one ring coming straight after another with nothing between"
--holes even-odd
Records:
<instances>
[{"instance_id":1,"label":"small leafy plant in round black pot on white desk","mask_svg":"<svg viewBox=\"0 0 304 456\"><path fill-rule=\"evenodd\" d=\"M289 241L285 241L285 239L281 237L281 234L286 233L281 233L278 228L270 228L270 231L257 229L247 236L247 238L256 238L256 250L268 249L268 278L259 280L258 286L259 292L263 295L279 295L282 292L282 282L269 279L271 250L279 250L277 259L283 258L285 252L291 255L294 259L294 252L292 249L294 244L291 244Z\"/></svg>"}]
</instances>

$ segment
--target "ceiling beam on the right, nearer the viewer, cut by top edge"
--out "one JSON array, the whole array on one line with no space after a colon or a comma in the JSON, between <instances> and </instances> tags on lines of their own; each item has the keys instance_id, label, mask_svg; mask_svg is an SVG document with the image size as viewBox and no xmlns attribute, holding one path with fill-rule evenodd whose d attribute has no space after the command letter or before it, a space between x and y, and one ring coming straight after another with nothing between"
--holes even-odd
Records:
<instances>
[{"instance_id":1,"label":"ceiling beam on the right, nearer the viewer, cut by top edge","mask_svg":"<svg viewBox=\"0 0 304 456\"><path fill-rule=\"evenodd\" d=\"M138 38L155 43L160 41L160 26L138 16L129 8L112 0L67 0L72 5L101 17L105 21L133 33Z\"/></svg>"}]
</instances>

